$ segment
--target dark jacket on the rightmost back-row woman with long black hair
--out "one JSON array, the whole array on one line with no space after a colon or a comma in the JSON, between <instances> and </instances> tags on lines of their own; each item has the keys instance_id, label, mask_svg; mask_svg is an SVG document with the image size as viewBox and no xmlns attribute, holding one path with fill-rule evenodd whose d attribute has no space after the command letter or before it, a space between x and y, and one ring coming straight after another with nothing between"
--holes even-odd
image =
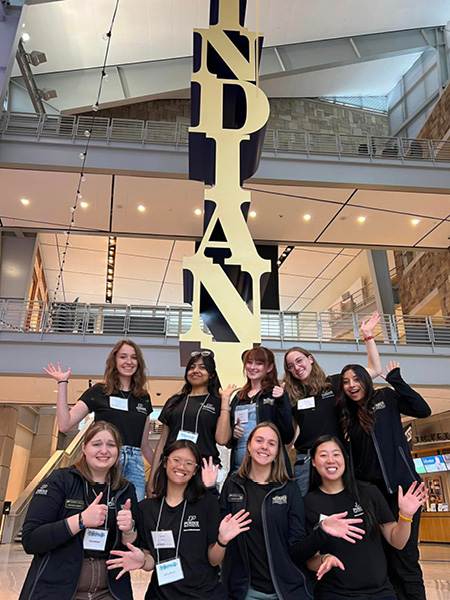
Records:
<instances>
[{"instance_id":1,"label":"dark jacket on the rightmost back-row woman with long black hair","mask_svg":"<svg viewBox=\"0 0 450 600\"><path fill-rule=\"evenodd\" d=\"M401 415L424 419L431 415L431 408L422 396L410 387L396 368L386 376L392 388L381 388L373 397L375 409L375 427L372 440L384 483L389 494L396 494L398 486L409 487L413 481L421 481L416 473L408 442L405 438ZM352 463L355 456L350 439ZM364 473L356 473L358 479L368 481Z\"/></svg>"}]
</instances>

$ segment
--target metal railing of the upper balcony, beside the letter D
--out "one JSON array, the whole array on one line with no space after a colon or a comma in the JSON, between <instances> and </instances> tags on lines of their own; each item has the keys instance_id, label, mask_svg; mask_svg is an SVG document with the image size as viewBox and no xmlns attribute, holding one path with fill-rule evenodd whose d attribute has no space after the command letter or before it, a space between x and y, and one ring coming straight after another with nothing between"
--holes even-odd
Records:
<instances>
[{"instance_id":1,"label":"metal railing of the upper balcony, beside the letter D","mask_svg":"<svg viewBox=\"0 0 450 600\"><path fill-rule=\"evenodd\" d=\"M124 142L146 146L188 144L187 123L109 119L72 115L40 115L3 112L0 114L0 137L31 136L36 139L63 138L76 142L90 135L99 142ZM265 151L275 153L334 155L374 161L420 160L433 164L450 162L450 140L410 139L369 135L313 133L267 129Z\"/></svg>"}]
</instances>

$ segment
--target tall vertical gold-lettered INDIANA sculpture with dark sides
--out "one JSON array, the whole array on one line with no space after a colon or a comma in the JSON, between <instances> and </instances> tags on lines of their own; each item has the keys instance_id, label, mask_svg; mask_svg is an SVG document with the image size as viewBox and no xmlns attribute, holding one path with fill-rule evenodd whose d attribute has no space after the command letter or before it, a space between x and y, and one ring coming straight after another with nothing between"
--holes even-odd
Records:
<instances>
[{"instance_id":1,"label":"tall vertical gold-lettered INDIANA sculpture with dark sides","mask_svg":"<svg viewBox=\"0 0 450 600\"><path fill-rule=\"evenodd\" d=\"M210 27L194 32L190 178L204 181L204 236L186 257L193 320L181 345L214 351L224 384L242 378L242 353L261 341L261 283L270 272L247 226L269 102L257 87L262 36L244 27L246 0L211 0ZM202 328L201 316L211 334Z\"/></svg>"}]
</instances>

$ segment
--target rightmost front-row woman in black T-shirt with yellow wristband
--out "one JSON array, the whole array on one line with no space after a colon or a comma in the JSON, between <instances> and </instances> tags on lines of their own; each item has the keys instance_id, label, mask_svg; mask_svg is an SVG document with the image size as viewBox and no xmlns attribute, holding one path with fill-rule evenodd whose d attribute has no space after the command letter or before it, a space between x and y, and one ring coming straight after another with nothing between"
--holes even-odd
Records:
<instances>
[{"instance_id":1,"label":"rightmost front-row woman in black T-shirt with yellow wristband","mask_svg":"<svg viewBox=\"0 0 450 600\"><path fill-rule=\"evenodd\" d=\"M397 549L407 544L413 516L426 502L423 483L415 481L404 493L401 487L396 490L399 510L394 516L376 486L354 479L338 438L320 437L311 449L311 463L310 492L305 497L307 531L314 531L326 515L342 512L362 519L365 530L355 544L327 538L320 554L307 562L317 572L314 598L396 600L382 541Z\"/></svg>"}]
</instances>

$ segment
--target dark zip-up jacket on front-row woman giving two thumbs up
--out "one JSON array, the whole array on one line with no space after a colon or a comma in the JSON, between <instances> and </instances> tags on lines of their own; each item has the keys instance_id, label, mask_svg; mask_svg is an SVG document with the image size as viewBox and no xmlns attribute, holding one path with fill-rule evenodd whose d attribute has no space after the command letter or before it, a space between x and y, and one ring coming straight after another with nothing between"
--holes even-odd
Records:
<instances>
[{"instance_id":1,"label":"dark zip-up jacket on front-row woman giving two thumbs up","mask_svg":"<svg viewBox=\"0 0 450 600\"><path fill-rule=\"evenodd\" d=\"M74 468L57 469L34 492L23 525L22 543L34 554L19 600L72 600L83 564L83 533L72 535L67 518L88 507L84 477ZM134 485L114 490L116 514L128 498L135 518ZM123 549L116 530L114 549ZM118 570L108 571L110 592L117 600L132 600L129 573L116 581Z\"/></svg>"}]
</instances>

